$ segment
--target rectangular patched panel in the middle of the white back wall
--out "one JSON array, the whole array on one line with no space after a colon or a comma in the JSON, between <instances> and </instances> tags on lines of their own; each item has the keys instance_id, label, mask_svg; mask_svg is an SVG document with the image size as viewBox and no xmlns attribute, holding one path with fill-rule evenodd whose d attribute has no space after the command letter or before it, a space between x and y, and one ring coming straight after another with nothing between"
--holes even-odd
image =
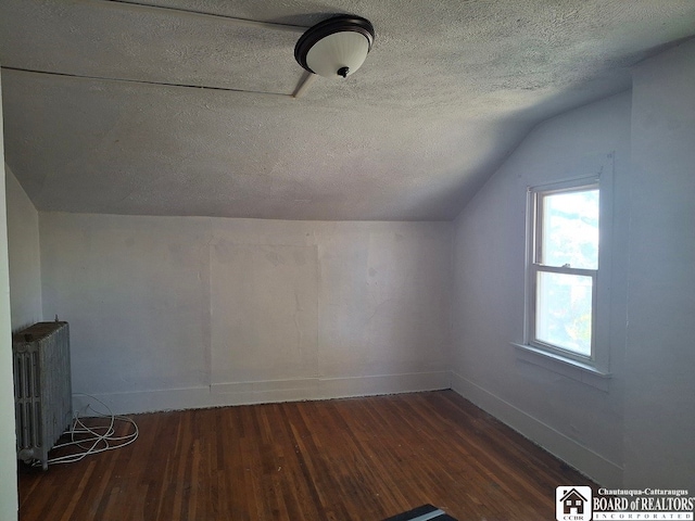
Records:
<instances>
[{"instance_id":1,"label":"rectangular patched panel in the middle of the white back wall","mask_svg":"<svg viewBox=\"0 0 695 521\"><path fill-rule=\"evenodd\" d=\"M318 376L316 246L211 245L212 384Z\"/></svg>"}]
</instances>

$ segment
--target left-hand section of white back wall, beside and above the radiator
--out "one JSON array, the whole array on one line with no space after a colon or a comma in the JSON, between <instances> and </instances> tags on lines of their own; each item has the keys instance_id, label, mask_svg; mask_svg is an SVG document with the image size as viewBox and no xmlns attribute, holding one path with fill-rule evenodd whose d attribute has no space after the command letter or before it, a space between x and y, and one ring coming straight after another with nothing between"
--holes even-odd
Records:
<instances>
[{"instance_id":1,"label":"left-hand section of white back wall, beside and above the radiator","mask_svg":"<svg viewBox=\"0 0 695 521\"><path fill-rule=\"evenodd\" d=\"M43 315L71 323L75 392L210 382L210 224L39 214Z\"/></svg>"}]
</instances>

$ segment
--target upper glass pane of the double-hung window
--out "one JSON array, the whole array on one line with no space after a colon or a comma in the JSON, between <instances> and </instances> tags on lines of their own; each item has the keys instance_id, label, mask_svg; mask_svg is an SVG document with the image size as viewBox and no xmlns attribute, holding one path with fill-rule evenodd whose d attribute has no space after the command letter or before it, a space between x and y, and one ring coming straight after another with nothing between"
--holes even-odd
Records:
<instances>
[{"instance_id":1,"label":"upper glass pane of the double-hung window","mask_svg":"<svg viewBox=\"0 0 695 521\"><path fill-rule=\"evenodd\" d=\"M545 194L540 264L598 269L598 189Z\"/></svg>"}]
</instances>

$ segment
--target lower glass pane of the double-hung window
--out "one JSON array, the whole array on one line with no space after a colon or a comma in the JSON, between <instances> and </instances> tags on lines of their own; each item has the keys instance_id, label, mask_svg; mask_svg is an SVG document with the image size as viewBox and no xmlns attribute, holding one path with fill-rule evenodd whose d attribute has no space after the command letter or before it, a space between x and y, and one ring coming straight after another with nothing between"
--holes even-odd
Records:
<instances>
[{"instance_id":1,"label":"lower glass pane of the double-hung window","mask_svg":"<svg viewBox=\"0 0 695 521\"><path fill-rule=\"evenodd\" d=\"M538 272L535 338L591 356L592 278Z\"/></svg>"}]
</instances>

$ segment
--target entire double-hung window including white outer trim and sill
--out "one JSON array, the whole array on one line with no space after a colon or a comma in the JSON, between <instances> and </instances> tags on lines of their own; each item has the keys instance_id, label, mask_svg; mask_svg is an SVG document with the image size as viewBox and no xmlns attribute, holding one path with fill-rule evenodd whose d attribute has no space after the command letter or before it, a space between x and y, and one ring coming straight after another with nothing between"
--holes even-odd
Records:
<instances>
[{"instance_id":1,"label":"entire double-hung window including white outer trim and sill","mask_svg":"<svg viewBox=\"0 0 695 521\"><path fill-rule=\"evenodd\" d=\"M612 152L585 156L568 165L577 177L527 189L523 339L511 341L518 360L605 392L627 287L611 280L614 169Z\"/></svg>"}]
</instances>

